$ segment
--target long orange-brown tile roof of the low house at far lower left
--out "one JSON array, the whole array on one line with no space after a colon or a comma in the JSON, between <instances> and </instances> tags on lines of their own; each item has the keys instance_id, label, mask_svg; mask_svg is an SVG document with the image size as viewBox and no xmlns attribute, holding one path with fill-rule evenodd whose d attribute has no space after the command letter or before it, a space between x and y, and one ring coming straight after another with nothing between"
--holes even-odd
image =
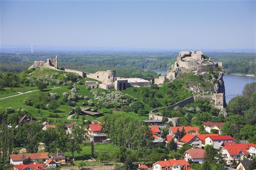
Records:
<instances>
[{"instance_id":1,"label":"long orange-brown tile roof of the low house at far lower left","mask_svg":"<svg viewBox=\"0 0 256 170\"><path fill-rule=\"evenodd\" d=\"M10 155L11 159L13 161L21 161L24 159L27 159L30 157L32 160L35 159L47 159L48 158L48 152L44 153L29 153L29 154L16 154L16 155Z\"/></svg>"}]
</instances>

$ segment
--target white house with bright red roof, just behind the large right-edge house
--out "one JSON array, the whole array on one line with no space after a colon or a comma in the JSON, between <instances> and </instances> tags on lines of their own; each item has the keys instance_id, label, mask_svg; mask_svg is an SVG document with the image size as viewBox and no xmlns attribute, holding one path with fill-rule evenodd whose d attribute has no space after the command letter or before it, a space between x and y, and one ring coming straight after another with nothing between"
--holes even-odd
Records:
<instances>
[{"instance_id":1,"label":"white house with bright red roof, just behind the large right-edge house","mask_svg":"<svg viewBox=\"0 0 256 170\"><path fill-rule=\"evenodd\" d=\"M230 135L210 136L205 138L205 145L211 144L213 145L213 148L219 149L224 145L223 144L224 142L232 142L232 141L233 141L233 137L231 137Z\"/></svg>"}]
</instances>

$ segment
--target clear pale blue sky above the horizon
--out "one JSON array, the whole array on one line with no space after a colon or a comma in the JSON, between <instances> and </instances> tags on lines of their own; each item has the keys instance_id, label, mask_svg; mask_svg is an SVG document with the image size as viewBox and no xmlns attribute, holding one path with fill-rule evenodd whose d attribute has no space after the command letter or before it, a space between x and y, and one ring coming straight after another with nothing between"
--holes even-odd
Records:
<instances>
[{"instance_id":1,"label":"clear pale blue sky above the horizon","mask_svg":"<svg viewBox=\"0 0 256 170\"><path fill-rule=\"evenodd\" d=\"M256 1L1 0L1 44L255 49Z\"/></svg>"}]
</instances>

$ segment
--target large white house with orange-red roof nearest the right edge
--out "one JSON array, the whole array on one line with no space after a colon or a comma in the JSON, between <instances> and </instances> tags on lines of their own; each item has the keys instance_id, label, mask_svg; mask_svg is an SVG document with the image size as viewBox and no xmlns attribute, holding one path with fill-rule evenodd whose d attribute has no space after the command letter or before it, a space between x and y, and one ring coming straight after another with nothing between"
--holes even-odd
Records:
<instances>
[{"instance_id":1,"label":"large white house with orange-red roof nearest the right edge","mask_svg":"<svg viewBox=\"0 0 256 170\"><path fill-rule=\"evenodd\" d=\"M236 162L243 160L243 158L249 158L249 148L254 144L232 144L224 146L221 150L222 155L225 157L227 164L232 164L232 161Z\"/></svg>"}]
</instances>

